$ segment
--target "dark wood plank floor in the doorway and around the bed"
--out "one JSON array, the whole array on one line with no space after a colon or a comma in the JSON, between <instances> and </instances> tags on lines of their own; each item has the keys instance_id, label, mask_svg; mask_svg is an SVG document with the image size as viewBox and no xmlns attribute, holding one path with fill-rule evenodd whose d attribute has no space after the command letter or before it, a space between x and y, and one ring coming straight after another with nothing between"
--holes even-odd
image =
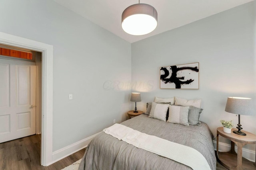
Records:
<instances>
[{"instance_id":1,"label":"dark wood plank floor in the doorway and around the bed","mask_svg":"<svg viewBox=\"0 0 256 170\"><path fill-rule=\"evenodd\" d=\"M0 170L61 170L84 155L85 149L51 164L40 165L41 135L0 143ZM216 170L227 170L217 162Z\"/></svg>"}]
</instances>

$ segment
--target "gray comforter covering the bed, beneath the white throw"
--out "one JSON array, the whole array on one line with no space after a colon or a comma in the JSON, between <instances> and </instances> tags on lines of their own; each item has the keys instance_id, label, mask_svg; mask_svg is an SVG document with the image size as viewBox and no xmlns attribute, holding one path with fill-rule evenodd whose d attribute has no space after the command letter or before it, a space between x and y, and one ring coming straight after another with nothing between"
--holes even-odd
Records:
<instances>
[{"instance_id":1,"label":"gray comforter covering the bed, beneath the white throw","mask_svg":"<svg viewBox=\"0 0 256 170\"><path fill-rule=\"evenodd\" d=\"M121 123L127 127L198 150L216 170L212 133L206 123L184 126L139 115ZM148 141L150 143L150 141ZM172 148L166 148L172 150ZM86 148L79 170L191 170L190 167L138 149L101 132Z\"/></svg>"}]
</instances>

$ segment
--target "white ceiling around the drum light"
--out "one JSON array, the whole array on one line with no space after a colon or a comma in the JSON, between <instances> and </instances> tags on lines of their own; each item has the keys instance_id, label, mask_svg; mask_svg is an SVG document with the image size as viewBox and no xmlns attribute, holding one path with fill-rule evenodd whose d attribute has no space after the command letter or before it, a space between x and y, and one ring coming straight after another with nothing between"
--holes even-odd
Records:
<instances>
[{"instance_id":1,"label":"white ceiling around the drum light","mask_svg":"<svg viewBox=\"0 0 256 170\"><path fill-rule=\"evenodd\" d=\"M140 0L158 12L158 26L146 35L129 35L122 30L122 12L138 0L54 0L118 37L133 43L186 25L253 0Z\"/></svg>"}]
</instances>

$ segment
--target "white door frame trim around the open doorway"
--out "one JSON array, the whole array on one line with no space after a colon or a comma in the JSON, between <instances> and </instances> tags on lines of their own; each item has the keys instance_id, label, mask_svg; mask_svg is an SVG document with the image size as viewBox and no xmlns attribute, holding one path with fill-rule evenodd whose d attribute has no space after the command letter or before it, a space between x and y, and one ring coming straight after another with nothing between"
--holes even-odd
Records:
<instances>
[{"instance_id":1,"label":"white door frame trim around the open doorway","mask_svg":"<svg viewBox=\"0 0 256 170\"><path fill-rule=\"evenodd\" d=\"M52 164L53 46L0 32L0 43L42 53L41 165Z\"/></svg>"}]
</instances>

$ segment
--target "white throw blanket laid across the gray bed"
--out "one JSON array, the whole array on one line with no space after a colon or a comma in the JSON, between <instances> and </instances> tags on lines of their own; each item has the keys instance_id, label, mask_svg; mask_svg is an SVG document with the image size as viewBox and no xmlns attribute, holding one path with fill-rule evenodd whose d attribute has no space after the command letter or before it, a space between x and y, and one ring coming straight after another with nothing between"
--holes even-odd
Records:
<instances>
[{"instance_id":1,"label":"white throw blanket laid across the gray bed","mask_svg":"<svg viewBox=\"0 0 256 170\"><path fill-rule=\"evenodd\" d=\"M193 170L211 169L204 156L191 147L148 135L146 133L141 133L140 131L136 131L118 123L104 129L103 131L106 134L134 145L137 148L180 162L189 166Z\"/></svg>"}]
</instances>

